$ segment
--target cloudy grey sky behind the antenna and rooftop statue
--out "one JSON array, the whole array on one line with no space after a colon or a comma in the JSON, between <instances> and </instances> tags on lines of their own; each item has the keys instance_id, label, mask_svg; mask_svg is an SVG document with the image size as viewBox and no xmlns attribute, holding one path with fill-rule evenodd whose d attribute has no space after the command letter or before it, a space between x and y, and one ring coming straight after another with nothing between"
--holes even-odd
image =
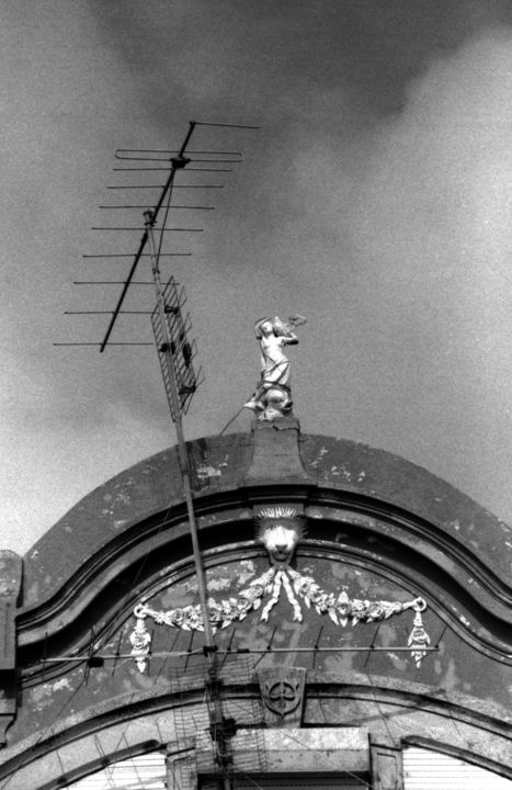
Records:
<instances>
[{"instance_id":1,"label":"cloudy grey sky behind the antenna and rooftop statue","mask_svg":"<svg viewBox=\"0 0 512 790\"><path fill-rule=\"evenodd\" d=\"M139 210L164 173L117 148L243 154L181 173L168 259L205 382L185 436L218 433L259 373L253 321L307 317L291 348L306 433L407 458L512 522L512 2L19 0L0 25L0 546L175 441L157 353L98 342ZM232 157L228 157L232 158ZM238 157L235 157L238 159ZM126 165L126 162L124 162ZM129 165L129 163L128 163ZM204 167L204 166L203 166ZM179 216L178 216L179 214ZM147 280L147 261L137 279ZM151 309L132 289L126 308ZM123 316L114 341L150 342ZM249 430L242 411L229 430Z\"/></svg>"}]
</instances>

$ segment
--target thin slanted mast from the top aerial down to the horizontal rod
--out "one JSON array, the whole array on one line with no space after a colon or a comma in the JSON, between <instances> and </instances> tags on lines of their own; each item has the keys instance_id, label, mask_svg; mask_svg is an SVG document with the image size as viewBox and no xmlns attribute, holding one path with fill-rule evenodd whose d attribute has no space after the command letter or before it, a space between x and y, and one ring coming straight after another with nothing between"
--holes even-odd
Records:
<instances>
[{"instance_id":1,"label":"thin slanted mast from the top aerial down to the horizontal rod","mask_svg":"<svg viewBox=\"0 0 512 790\"><path fill-rule=\"evenodd\" d=\"M155 293L157 297L157 307L158 313L160 317L160 325L162 327L162 331L164 334L164 348L160 348L160 353L164 353L168 361L168 368L169 368L169 377L170 377L170 398L171 398L171 405L172 405L172 413L174 418L174 425L177 427L177 438L178 438L178 458L180 463L180 472L181 477L183 481L183 493L185 496L186 501L186 512L189 517L189 524L190 524L190 531L191 531L191 538L192 538L192 548L194 552L194 563L195 563L195 573L197 575L197 587L200 590L200 603L201 603L201 612L203 614L203 623L204 623L204 636L205 636L205 647L214 647L214 639L213 639L213 631L212 625L209 622L209 613L208 613L208 606L206 601L206 579L205 579L205 573L203 567L203 561L201 557L201 551L200 551L200 542L197 539L197 526L195 522L195 514L194 514L194 504L192 500L192 486L191 486L191 474L190 474L190 462L189 462L189 454L186 452L185 447L185 439L183 433L183 421L181 418L181 405L180 399L178 396L178 384L177 384L177 376L175 376L175 370L174 370L174 361L172 359L172 346L171 346L171 338L169 337L169 329L167 324L167 316L166 316L166 306L163 301L163 293L162 293L162 284L160 279L160 269L158 266L158 252L157 252L157 245L155 242L155 234L153 234L153 224L155 224L155 214L151 211L147 211L144 213L145 217L145 227L146 227L146 236L149 242L149 251L151 256L151 271L152 276L155 281Z\"/></svg>"}]
</instances>

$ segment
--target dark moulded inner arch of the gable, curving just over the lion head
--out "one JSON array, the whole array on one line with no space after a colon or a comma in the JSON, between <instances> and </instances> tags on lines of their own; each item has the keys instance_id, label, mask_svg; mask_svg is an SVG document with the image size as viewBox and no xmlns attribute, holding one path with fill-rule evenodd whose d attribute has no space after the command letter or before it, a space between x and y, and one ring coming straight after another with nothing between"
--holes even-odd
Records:
<instances>
[{"instance_id":1,"label":"dark moulded inner arch of the gable, curving just over the lion head","mask_svg":"<svg viewBox=\"0 0 512 790\"><path fill-rule=\"evenodd\" d=\"M394 578L413 579L419 594L434 600L440 617L463 639L507 659L510 590L437 527L367 496L304 484L205 493L196 511L207 565L221 562L226 553L246 556L254 549L252 506L265 504L265 498L304 507L310 524L304 551L334 552ZM54 652L66 652L71 634L73 647L84 648L99 612L104 622L118 620L138 597L148 595L155 578L161 582L162 572L172 575L181 566L190 569L192 556L179 505L132 524L55 596L20 612L20 655L31 655L31 662L41 657L43 642L49 650L54 644Z\"/></svg>"}]
</instances>

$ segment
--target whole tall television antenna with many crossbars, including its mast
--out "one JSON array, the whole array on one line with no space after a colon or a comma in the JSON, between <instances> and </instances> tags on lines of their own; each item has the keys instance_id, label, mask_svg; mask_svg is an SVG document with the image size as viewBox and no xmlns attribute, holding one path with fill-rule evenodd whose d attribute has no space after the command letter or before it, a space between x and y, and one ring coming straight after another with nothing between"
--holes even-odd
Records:
<instances>
[{"instance_id":1,"label":"whole tall television antenna with many crossbars, including its mast","mask_svg":"<svg viewBox=\"0 0 512 790\"><path fill-rule=\"evenodd\" d=\"M152 208L148 208L147 205L140 205L141 201L134 201L127 205L105 205L101 208L105 210L120 210L120 208L143 208L144 210L144 225L143 227L96 227L95 230L101 232L141 232L141 237L138 244L138 248L133 257L132 266L128 274L122 281L78 281L76 284L80 285L122 285L121 295L117 300L114 311L76 311L69 312L72 315L110 315L111 319L106 329L106 332L99 343L54 343L56 346L99 346L100 353L103 353L107 346L117 345L148 345L148 343L128 343L128 342L114 342L111 340L113 329L117 323L120 315L135 315L135 314L148 314L151 316L151 326L155 337L155 343L158 351L163 384L166 387L168 405L171 414L171 419L175 426L177 439L178 439L178 458L179 469L182 479L183 495L186 503L187 520L192 540L192 549L194 555L194 565L197 578L197 587L200 595L200 606L203 616L204 624L204 645L203 654L209 659L209 695L212 701L212 721L215 722L213 725L213 732L215 732L215 741L217 746L223 745L223 754L225 746L227 748L230 733L224 731L224 722L227 721L223 714L220 697L216 693L218 687L218 659L215 655L217 646L214 642L214 634L212 624L209 622L209 612L207 606L207 590L206 590L206 577L200 550L198 537L197 537L197 524L194 514L194 501L193 492L191 484L191 461L186 450L184 430L183 430L183 416L186 414L191 404L192 397L202 383L201 369L196 372L194 369L194 359L196 357L196 343L195 340L190 339L191 330L191 318L190 315L183 314L183 307L186 302L186 295L184 287L179 286L173 276L170 276L167 282L163 282L160 261L162 258L173 256L189 256L189 252L167 252L163 251L163 240L167 234L171 233L201 233L203 228L197 227L170 227L168 225L169 216L174 211L187 210L187 211L213 211L213 206L203 205L186 205L173 203L173 195L175 190L218 190L223 189L224 184L218 183L206 183L206 184L180 184L177 182L178 173L185 169L195 172L231 172L231 168L205 168L204 165L219 165L229 163L236 165L241 161L241 154L239 151L218 151L218 150L193 150L190 148L192 136L198 126L204 127L224 127L231 129L257 129L258 126L248 126L240 124L216 124L216 123L204 123L197 121L191 121L189 123L189 129L185 134L182 145L177 150L162 150L162 149L117 149L115 157L117 160L123 162L130 162L134 167L127 167L123 165L121 168L115 168L117 171L167 171L167 180L163 185L157 185L160 189L159 198ZM189 168L189 166L192 167ZM198 165L200 167L194 167ZM112 185L111 190L152 190L155 187L150 185ZM180 193L181 194L181 193ZM161 221L160 221L161 218ZM160 221L160 223L159 223ZM86 258L125 258L126 253L107 253L104 256L84 256ZM138 264L143 258L149 258L151 264L151 280L135 280ZM130 285L152 285L155 289L155 308L152 312L149 311L127 311L123 309L124 302ZM92 644L93 640L91 641ZM94 666L94 656L88 657L88 667ZM229 749L228 749L229 752ZM230 788L231 782L228 777L229 769L229 755L226 753L226 765L223 761L221 768L225 772L225 788ZM223 758L224 760L224 758Z\"/></svg>"}]
</instances>

